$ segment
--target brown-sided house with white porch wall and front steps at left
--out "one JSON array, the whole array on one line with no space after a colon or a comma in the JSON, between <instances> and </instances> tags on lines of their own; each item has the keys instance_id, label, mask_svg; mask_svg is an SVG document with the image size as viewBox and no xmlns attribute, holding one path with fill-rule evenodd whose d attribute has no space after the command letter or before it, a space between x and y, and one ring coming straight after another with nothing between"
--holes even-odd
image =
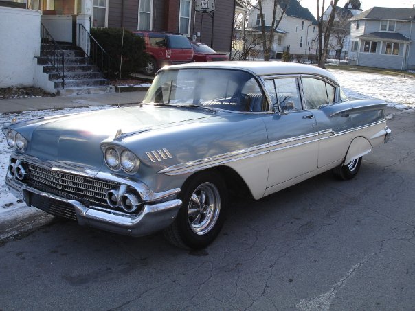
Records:
<instances>
[{"instance_id":1,"label":"brown-sided house with white porch wall and front steps at left","mask_svg":"<svg viewBox=\"0 0 415 311\"><path fill-rule=\"evenodd\" d=\"M0 87L35 86L61 94L108 91L108 80L89 58L91 27L181 32L229 52L236 0L203 1L216 5L210 13L196 12L198 1L2 0L0 28L7 31L0 32L0 40L8 44L0 45Z\"/></svg>"}]
</instances>

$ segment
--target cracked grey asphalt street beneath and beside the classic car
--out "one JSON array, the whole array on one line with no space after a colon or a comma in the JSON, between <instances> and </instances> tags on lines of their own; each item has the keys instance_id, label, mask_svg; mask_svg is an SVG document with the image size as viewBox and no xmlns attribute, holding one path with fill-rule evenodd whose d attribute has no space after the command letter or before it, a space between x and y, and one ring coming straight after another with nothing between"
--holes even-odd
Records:
<instances>
[{"instance_id":1,"label":"cracked grey asphalt street beneath and beside the classic car","mask_svg":"<svg viewBox=\"0 0 415 311\"><path fill-rule=\"evenodd\" d=\"M56 220L0 244L0 310L414 310L415 111L351 181L232 200L203 251Z\"/></svg>"}]
</instances>

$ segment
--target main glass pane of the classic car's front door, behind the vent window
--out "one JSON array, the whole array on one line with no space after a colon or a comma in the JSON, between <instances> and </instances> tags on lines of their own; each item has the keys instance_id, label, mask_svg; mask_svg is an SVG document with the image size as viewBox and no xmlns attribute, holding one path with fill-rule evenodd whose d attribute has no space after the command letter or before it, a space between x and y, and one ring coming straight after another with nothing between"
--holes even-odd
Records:
<instances>
[{"instance_id":1,"label":"main glass pane of the classic car's front door, behind the vent window","mask_svg":"<svg viewBox=\"0 0 415 311\"><path fill-rule=\"evenodd\" d=\"M297 78L281 78L274 80L280 108L284 110L301 110L300 88Z\"/></svg>"}]
</instances>

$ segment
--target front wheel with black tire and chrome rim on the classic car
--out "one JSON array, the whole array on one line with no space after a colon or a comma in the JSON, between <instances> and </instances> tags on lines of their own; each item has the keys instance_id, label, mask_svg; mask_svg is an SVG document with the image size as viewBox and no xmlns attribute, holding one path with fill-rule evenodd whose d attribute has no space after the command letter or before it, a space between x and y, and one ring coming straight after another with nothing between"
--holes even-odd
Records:
<instances>
[{"instance_id":1,"label":"front wheel with black tire and chrome rim on the classic car","mask_svg":"<svg viewBox=\"0 0 415 311\"><path fill-rule=\"evenodd\" d=\"M214 241L225 221L225 182L214 171L201 172L186 182L180 198L183 205L164 236L180 248L203 249Z\"/></svg>"}]
</instances>

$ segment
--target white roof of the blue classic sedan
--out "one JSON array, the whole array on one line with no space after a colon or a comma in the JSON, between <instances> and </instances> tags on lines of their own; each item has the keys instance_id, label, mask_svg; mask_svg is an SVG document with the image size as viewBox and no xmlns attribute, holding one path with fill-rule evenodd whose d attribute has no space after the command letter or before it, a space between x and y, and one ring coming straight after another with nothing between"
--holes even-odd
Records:
<instances>
[{"instance_id":1,"label":"white roof of the blue classic sedan","mask_svg":"<svg viewBox=\"0 0 415 311\"><path fill-rule=\"evenodd\" d=\"M339 84L337 78L329 71L317 66L296 64L292 62L265 62L265 61L225 61L225 62L191 62L183 65L172 65L168 69L179 68L223 68L243 69L251 71L257 76L275 76L279 74L311 74L324 76Z\"/></svg>"}]
</instances>

